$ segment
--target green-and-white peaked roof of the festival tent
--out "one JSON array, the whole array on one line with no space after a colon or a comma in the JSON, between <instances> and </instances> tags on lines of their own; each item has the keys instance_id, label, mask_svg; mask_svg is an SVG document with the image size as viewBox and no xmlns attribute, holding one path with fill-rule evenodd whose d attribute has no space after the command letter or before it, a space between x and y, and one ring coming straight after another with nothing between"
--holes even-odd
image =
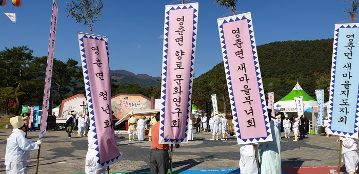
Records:
<instances>
[{"instance_id":1,"label":"green-and-white peaked roof of the festival tent","mask_svg":"<svg viewBox=\"0 0 359 174\"><path fill-rule=\"evenodd\" d=\"M275 95L275 94L274 94ZM304 112L312 112L312 106L318 105L318 102L310 97L299 85L296 83L293 90L283 97L281 100L274 103L275 112L296 112L296 105L294 97L303 96L304 100Z\"/></svg>"}]
</instances>

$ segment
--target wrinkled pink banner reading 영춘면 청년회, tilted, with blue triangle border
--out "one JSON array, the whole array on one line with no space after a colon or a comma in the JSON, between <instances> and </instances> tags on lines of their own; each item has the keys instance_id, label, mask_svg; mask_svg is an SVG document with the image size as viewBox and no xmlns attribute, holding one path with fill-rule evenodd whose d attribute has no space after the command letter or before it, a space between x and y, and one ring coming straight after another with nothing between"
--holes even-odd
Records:
<instances>
[{"instance_id":1,"label":"wrinkled pink banner reading \uc601\ucd98\uba74 \uccad\ub144\ud68c, tilted, with blue triangle border","mask_svg":"<svg viewBox=\"0 0 359 174\"><path fill-rule=\"evenodd\" d=\"M103 168L123 159L112 125L108 38L78 32L78 39L90 117L88 142L96 167Z\"/></svg>"}]
</instances>

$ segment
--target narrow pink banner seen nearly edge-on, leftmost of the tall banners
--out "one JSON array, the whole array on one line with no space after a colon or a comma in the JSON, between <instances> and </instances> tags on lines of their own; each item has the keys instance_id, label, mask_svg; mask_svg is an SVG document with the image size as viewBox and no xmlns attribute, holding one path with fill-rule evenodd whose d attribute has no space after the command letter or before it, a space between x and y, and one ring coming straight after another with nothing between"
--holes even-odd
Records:
<instances>
[{"instance_id":1,"label":"narrow pink banner seen nearly edge-on, leftmost of the tall banners","mask_svg":"<svg viewBox=\"0 0 359 174\"><path fill-rule=\"evenodd\" d=\"M51 89L53 53L54 53L54 48L55 48L57 9L58 9L57 1L53 0L50 39L49 39L49 51L47 53L47 65L46 65L46 75L45 75L43 113L42 113L42 117L41 117L41 128L40 128L39 139L41 139L46 134L47 114L49 111L49 107L52 107L52 106L49 106L49 99L50 99L50 89Z\"/></svg>"}]
</instances>

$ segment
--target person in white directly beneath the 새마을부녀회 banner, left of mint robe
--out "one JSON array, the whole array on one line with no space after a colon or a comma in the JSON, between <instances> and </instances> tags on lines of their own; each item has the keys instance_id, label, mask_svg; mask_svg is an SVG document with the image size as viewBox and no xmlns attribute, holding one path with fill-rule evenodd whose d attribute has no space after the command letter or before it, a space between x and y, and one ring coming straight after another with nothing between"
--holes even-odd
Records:
<instances>
[{"instance_id":1,"label":"person in white directly beneath the \uc0c8\ub9c8\uc744\ubd80\ub140\ud68c banner, left of mint robe","mask_svg":"<svg viewBox=\"0 0 359 174\"><path fill-rule=\"evenodd\" d=\"M255 151L254 146L258 143L253 144L241 144L240 145L240 152L241 152L241 159L240 159L240 169L241 174L257 174L258 173L258 166L255 160ZM257 148L257 154L259 150ZM260 159L258 159L260 160Z\"/></svg>"}]
</instances>

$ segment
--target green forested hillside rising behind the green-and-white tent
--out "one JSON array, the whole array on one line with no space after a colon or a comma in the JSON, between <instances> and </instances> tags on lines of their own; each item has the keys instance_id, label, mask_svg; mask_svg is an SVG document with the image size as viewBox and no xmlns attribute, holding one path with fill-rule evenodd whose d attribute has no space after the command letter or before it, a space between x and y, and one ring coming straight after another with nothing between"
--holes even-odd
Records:
<instances>
[{"instance_id":1,"label":"green forested hillside rising behind the green-and-white tent","mask_svg":"<svg viewBox=\"0 0 359 174\"><path fill-rule=\"evenodd\" d=\"M277 41L257 47L264 92L274 92L275 102L286 96L297 79L303 90L315 98L314 90L330 84L333 39ZM216 94L218 110L230 112L230 103L223 62L193 80L192 101L203 107ZM266 96L267 98L267 96ZM223 103L226 103L225 105Z\"/></svg>"}]
</instances>

